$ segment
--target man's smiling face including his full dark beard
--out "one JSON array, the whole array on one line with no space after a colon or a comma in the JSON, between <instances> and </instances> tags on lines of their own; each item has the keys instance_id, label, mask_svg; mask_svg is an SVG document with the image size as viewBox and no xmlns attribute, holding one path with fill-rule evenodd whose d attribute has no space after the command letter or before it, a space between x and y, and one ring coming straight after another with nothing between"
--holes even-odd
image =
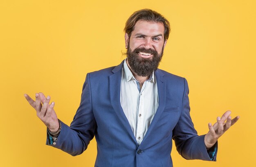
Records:
<instances>
[{"instance_id":1,"label":"man's smiling face including his full dark beard","mask_svg":"<svg viewBox=\"0 0 256 167\"><path fill-rule=\"evenodd\" d=\"M150 76L162 59L164 24L139 20L131 32L125 35L127 60L133 72L139 76Z\"/></svg>"}]
</instances>

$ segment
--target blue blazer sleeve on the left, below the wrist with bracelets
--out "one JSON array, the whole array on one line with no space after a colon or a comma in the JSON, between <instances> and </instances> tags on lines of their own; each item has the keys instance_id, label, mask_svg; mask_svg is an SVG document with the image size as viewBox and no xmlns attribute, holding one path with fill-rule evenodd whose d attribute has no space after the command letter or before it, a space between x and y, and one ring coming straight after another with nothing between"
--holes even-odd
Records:
<instances>
[{"instance_id":1,"label":"blue blazer sleeve on the left, below the wrist with bracelets","mask_svg":"<svg viewBox=\"0 0 256 167\"><path fill-rule=\"evenodd\" d=\"M68 104L67 104L68 105ZM86 75L83 84L81 102L70 127L61 121L61 131L56 145L51 144L47 133L46 145L61 149L72 156L82 154L94 137L97 124L92 111L92 97L90 87L90 73Z\"/></svg>"}]
</instances>

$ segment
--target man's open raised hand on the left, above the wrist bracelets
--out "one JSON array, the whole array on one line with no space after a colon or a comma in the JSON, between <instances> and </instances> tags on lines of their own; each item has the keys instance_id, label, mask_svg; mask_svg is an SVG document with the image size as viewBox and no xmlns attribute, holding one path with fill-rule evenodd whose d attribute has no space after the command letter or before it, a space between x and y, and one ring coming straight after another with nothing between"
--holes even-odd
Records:
<instances>
[{"instance_id":1,"label":"man's open raised hand on the left, above the wrist bracelets","mask_svg":"<svg viewBox=\"0 0 256 167\"><path fill-rule=\"evenodd\" d=\"M51 132L58 131L59 122L57 115L53 109L54 102L52 102L49 105L51 97L47 96L47 98L45 98L45 95L41 92L39 94L36 93L36 101L30 98L27 94L24 94L24 96L29 102L29 104L36 110L36 115L38 116L38 118L40 118L40 120L43 121L43 123L48 127L48 129Z\"/></svg>"}]
</instances>

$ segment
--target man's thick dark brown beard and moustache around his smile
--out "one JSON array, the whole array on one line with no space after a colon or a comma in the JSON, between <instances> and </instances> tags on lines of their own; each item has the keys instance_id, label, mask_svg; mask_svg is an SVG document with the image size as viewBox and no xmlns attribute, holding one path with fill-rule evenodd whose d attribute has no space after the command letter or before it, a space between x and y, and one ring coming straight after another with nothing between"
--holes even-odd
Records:
<instances>
[{"instance_id":1,"label":"man's thick dark brown beard and moustache around his smile","mask_svg":"<svg viewBox=\"0 0 256 167\"><path fill-rule=\"evenodd\" d=\"M162 52L160 54L153 49L145 49L145 48L136 48L133 51L130 49L129 43L127 48L127 60L130 65L130 68L133 72L135 72L138 76L150 76L153 71L157 70L159 63L162 60L164 51L164 46L162 48ZM142 58L139 56L139 52L151 53L153 54L152 58Z\"/></svg>"}]
</instances>

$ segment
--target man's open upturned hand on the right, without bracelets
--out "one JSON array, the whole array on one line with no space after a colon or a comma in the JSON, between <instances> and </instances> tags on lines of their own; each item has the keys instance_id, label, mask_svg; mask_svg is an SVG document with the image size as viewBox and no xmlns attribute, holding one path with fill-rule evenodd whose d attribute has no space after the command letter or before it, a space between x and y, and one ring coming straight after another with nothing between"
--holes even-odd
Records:
<instances>
[{"instance_id":1,"label":"man's open upturned hand on the right, without bracelets","mask_svg":"<svg viewBox=\"0 0 256 167\"><path fill-rule=\"evenodd\" d=\"M226 111L222 117L217 117L217 122L212 126L211 123L208 124L209 132L204 137L204 143L207 149L211 148L218 140L222 134L229 129L238 119L239 116L231 120L231 111ZM227 120L227 122L225 122Z\"/></svg>"}]
</instances>

